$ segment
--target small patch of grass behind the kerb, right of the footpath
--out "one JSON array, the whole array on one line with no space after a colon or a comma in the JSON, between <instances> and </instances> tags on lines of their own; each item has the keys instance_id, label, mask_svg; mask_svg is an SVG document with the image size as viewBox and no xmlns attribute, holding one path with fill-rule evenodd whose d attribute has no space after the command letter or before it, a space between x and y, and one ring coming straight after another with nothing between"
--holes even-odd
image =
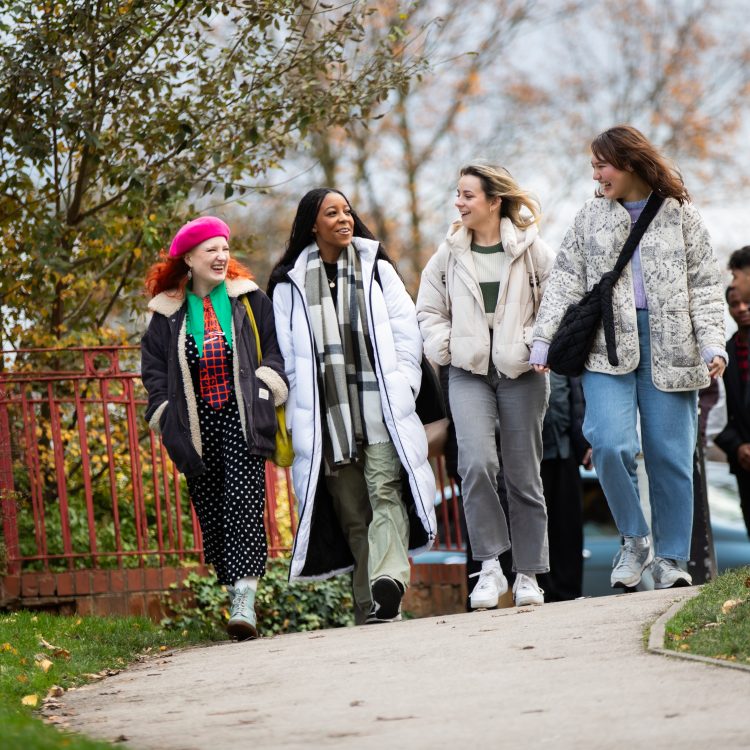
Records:
<instances>
[{"instance_id":1,"label":"small patch of grass behind the kerb, right of the footpath","mask_svg":"<svg viewBox=\"0 0 750 750\"><path fill-rule=\"evenodd\" d=\"M664 646L750 664L750 567L707 583L667 623Z\"/></svg>"}]
</instances>

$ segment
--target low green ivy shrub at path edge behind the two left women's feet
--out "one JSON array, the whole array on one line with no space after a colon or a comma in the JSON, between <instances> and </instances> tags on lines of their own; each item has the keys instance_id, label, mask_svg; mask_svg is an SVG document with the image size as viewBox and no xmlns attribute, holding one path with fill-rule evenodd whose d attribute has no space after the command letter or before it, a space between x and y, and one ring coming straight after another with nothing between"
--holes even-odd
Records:
<instances>
[{"instance_id":1,"label":"low green ivy shrub at path edge behind the two left women's feet","mask_svg":"<svg viewBox=\"0 0 750 750\"><path fill-rule=\"evenodd\" d=\"M305 583L289 583L288 576L288 560L268 561L255 596L258 630L262 635L354 624L349 576ZM229 618L229 594L219 585L215 574L204 577L190 573L182 584L173 584L170 588L183 588L189 593L170 599L171 615L162 620L163 627L189 630L212 639L224 637Z\"/></svg>"}]
</instances>

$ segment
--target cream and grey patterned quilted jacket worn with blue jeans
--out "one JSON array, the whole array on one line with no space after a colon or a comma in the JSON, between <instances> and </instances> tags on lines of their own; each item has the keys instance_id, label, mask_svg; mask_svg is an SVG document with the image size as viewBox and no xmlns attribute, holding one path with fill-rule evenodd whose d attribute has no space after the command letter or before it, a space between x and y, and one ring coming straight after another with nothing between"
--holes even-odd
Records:
<instances>
[{"instance_id":1,"label":"cream and grey patterned quilted jacket worn with blue jeans","mask_svg":"<svg viewBox=\"0 0 750 750\"><path fill-rule=\"evenodd\" d=\"M630 216L617 201L592 198L575 217L544 291L533 338L549 342L568 305L614 268L630 232ZM718 263L708 232L691 204L667 198L640 243L651 330L654 385L687 391L710 382L701 352L724 349L724 301ZM615 340L619 365L607 359L599 327L586 368L623 374L638 365L638 328L631 264L614 287Z\"/></svg>"}]
</instances>

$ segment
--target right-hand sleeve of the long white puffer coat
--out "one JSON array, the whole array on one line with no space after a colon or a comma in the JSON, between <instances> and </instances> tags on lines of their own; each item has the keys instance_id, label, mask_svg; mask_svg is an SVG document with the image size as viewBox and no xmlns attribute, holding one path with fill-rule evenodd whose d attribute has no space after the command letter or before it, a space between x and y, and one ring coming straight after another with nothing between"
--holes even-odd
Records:
<instances>
[{"instance_id":1,"label":"right-hand sleeve of the long white puffer coat","mask_svg":"<svg viewBox=\"0 0 750 750\"><path fill-rule=\"evenodd\" d=\"M417 323L417 311L396 269L388 261L376 262L393 332L398 369L406 376L416 397L422 383L422 335Z\"/></svg>"}]
</instances>

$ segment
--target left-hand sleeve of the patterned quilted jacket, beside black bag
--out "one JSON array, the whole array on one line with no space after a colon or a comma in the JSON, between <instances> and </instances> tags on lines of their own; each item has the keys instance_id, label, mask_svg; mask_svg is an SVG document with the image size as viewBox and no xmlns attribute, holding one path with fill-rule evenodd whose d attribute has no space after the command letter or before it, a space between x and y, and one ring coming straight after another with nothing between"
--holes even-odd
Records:
<instances>
[{"instance_id":1,"label":"left-hand sleeve of the patterned quilted jacket, beside black bag","mask_svg":"<svg viewBox=\"0 0 750 750\"><path fill-rule=\"evenodd\" d=\"M568 306L586 292L586 256L583 247L584 211L576 215L563 239L560 252L546 279L542 304L534 325L533 339L549 343Z\"/></svg>"}]
</instances>

